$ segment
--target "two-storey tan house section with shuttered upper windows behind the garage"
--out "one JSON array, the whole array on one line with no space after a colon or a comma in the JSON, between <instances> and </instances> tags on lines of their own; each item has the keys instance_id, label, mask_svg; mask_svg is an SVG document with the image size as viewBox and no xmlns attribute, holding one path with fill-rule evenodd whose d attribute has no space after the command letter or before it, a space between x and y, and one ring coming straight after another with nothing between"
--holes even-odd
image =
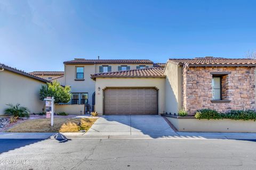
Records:
<instances>
[{"instance_id":1,"label":"two-storey tan house section with shuttered upper windows behind the garage","mask_svg":"<svg viewBox=\"0 0 256 170\"><path fill-rule=\"evenodd\" d=\"M91 74L145 69L153 67L150 60L85 60L75 58L64 62L65 86L71 87L72 99L69 104L95 104L95 81Z\"/></svg>"}]
</instances>

